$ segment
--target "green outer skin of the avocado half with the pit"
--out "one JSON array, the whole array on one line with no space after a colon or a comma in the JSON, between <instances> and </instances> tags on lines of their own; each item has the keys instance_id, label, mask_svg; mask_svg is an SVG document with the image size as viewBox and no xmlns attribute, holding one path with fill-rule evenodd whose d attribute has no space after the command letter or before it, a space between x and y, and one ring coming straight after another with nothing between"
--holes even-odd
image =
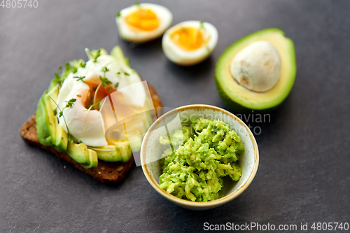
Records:
<instances>
[{"instance_id":1,"label":"green outer skin of the avocado half with the pit","mask_svg":"<svg viewBox=\"0 0 350 233\"><path fill-rule=\"evenodd\" d=\"M271 27L271 28L266 28L266 29L261 29L259 31L255 31L252 34L248 34L242 38L240 38L238 41L235 41L235 43L233 43L232 45L230 45L228 48L226 48L226 50L223 52L223 54L221 55L221 57L218 59L218 62L216 64L216 71L215 71L215 83L216 83L216 89L218 90L218 94L221 97L221 99L223 100L223 102L229 107L231 108L233 111L237 112L237 113L252 113L252 111L254 111L254 113L270 113L272 111L275 111L277 108L279 108L279 106L281 106L281 104L283 104L283 102L286 100L286 98L288 97L288 94L290 93L291 89L293 88L293 83L295 81L295 76L297 73L297 64L296 64L296 57L295 57L295 47L294 47L294 43L290 38L286 38L288 39L289 43L290 43L290 50L289 50L289 58L290 60L288 62L290 62L290 64L292 64L293 69L290 71L290 77L292 77L293 83L290 86L290 88L288 90L284 90L287 94L286 96L281 99L281 101L279 102L279 104L276 104L270 108L249 108L246 106L243 106L241 104L238 104L235 100L230 99L229 94L226 94L225 91L223 90L223 88L221 87L221 84L219 83L219 80L221 79L221 77L218 76L218 64L221 61L223 55L225 53L228 52L228 50L230 50L230 48L232 48L235 45L239 45L240 43L242 43L243 41L246 40L246 38L250 38L251 36L254 36L255 34L261 34L261 33L265 33L267 31L277 31L280 34L282 34L284 36L284 31L276 28L276 27Z\"/></svg>"}]
</instances>

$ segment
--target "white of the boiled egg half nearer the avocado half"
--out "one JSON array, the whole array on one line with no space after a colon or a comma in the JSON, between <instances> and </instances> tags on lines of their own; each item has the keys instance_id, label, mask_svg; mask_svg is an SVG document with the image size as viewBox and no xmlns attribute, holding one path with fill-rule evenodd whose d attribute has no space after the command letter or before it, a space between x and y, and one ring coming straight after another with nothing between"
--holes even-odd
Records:
<instances>
[{"instance_id":1,"label":"white of the boiled egg half nearer the avocado half","mask_svg":"<svg viewBox=\"0 0 350 233\"><path fill-rule=\"evenodd\" d=\"M170 35L173 31L177 31L182 27L202 27L202 33L204 36L209 36L209 41L197 50L183 50L172 41L172 38L170 38ZM218 30L216 30L216 27L214 27L214 25L210 24L209 22L202 22L201 25L200 21L195 20L176 24L175 26L169 28L162 38L162 48L165 56L175 64L182 66L192 66L202 62L211 54L211 52L213 52L217 43Z\"/></svg>"}]
</instances>

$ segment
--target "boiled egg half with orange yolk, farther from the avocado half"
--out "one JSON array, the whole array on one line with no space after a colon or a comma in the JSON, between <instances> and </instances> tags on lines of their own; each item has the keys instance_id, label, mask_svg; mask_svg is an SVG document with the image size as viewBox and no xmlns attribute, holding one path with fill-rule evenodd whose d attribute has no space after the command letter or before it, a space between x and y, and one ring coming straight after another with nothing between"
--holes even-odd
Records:
<instances>
[{"instance_id":1,"label":"boiled egg half with orange yolk, farther from the avocado half","mask_svg":"<svg viewBox=\"0 0 350 233\"><path fill-rule=\"evenodd\" d=\"M162 36L172 20L168 8L153 3L134 4L120 10L116 16L120 37L134 43L145 43Z\"/></svg>"}]
</instances>

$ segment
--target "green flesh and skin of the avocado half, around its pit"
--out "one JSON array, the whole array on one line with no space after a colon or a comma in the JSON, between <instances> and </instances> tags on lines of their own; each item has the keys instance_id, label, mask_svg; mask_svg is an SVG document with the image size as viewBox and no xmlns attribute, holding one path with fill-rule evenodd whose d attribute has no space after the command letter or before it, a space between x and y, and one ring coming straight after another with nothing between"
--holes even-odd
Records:
<instances>
[{"instance_id":1,"label":"green flesh and skin of the avocado half, around its pit","mask_svg":"<svg viewBox=\"0 0 350 233\"><path fill-rule=\"evenodd\" d=\"M254 92L246 89L235 81L230 71L232 59L239 51L255 41L272 43L281 57L281 76L278 83L267 92ZM221 99L234 111L243 113L252 110L268 112L274 110L286 99L292 90L296 73L293 41L286 38L281 29L267 28L240 38L223 52L216 65L216 88Z\"/></svg>"}]
</instances>

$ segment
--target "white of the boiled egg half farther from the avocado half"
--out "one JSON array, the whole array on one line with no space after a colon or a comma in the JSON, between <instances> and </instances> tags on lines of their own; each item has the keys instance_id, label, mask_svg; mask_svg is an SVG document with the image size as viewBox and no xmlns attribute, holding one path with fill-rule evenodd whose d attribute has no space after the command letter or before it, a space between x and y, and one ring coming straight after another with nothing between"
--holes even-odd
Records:
<instances>
[{"instance_id":1,"label":"white of the boiled egg half farther from the avocado half","mask_svg":"<svg viewBox=\"0 0 350 233\"><path fill-rule=\"evenodd\" d=\"M156 29L152 31L142 31L140 29L132 28L127 22L125 22L125 17L134 13L139 8L148 8L157 15L159 20L159 25ZM120 10L120 16L116 17L116 23L119 29L120 38L125 41L130 41L134 43L145 43L147 41L152 41L164 34L164 32L172 24L173 15L172 12L165 6L160 6L153 3L140 3L137 5L130 6Z\"/></svg>"}]
</instances>

